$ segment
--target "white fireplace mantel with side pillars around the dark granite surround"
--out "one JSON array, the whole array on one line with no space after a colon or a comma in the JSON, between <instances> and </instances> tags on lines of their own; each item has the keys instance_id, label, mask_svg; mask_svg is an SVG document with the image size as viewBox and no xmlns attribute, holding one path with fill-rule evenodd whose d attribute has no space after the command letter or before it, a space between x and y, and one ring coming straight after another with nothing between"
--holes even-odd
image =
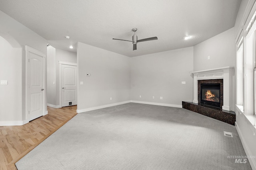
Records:
<instances>
[{"instance_id":1,"label":"white fireplace mantel with side pillars around the dark granite surround","mask_svg":"<svg viewBox=\"0 0 256 170\"><path fill-rule=\"evenodd\" d=\"M215 69L190 72L194 74L194 99L193 103L198 103L198 80L223 79L223 110L230 111L232 106L232 77L234 67L226 66Z\"/></svg>"}]
</instances>

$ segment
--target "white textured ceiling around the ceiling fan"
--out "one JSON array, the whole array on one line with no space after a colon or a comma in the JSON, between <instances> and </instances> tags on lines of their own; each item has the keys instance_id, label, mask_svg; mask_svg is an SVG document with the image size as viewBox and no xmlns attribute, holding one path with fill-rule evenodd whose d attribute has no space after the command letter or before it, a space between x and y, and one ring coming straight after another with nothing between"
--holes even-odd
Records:
<instances>
[{"instance_id":1,"label":"white textured ceiling around the ceiling fan","mask_svg":"<svg viewBox=\"0 0 256 170\"><path fill-rule=\"evenodd\" d=\"M241 0L0 0L0 10L48 40L76 42L129 57L191 47L234 27ZM138 39L132 51L132 28ZM70 39L66 39L69 35ZM184 40L189 35L192 38ZM68 47L73 45L74 49Z\"/></svg>"}]
</instances>

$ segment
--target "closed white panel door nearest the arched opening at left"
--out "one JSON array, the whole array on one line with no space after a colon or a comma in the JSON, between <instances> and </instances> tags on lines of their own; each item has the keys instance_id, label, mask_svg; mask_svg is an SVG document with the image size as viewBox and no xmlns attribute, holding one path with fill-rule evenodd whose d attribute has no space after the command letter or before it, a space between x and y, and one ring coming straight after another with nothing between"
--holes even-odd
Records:
<instances>
[{"instance_id":1,"label":"closed white panel door nearest the arched opening at left","mask_svg":"<svg viewBox=\"0 0 256 170\"><path fill-rule=\"evenodd\" d=\"M29 52L29 121L44 115L44 61Z\"/></svg>"}]
</instances>

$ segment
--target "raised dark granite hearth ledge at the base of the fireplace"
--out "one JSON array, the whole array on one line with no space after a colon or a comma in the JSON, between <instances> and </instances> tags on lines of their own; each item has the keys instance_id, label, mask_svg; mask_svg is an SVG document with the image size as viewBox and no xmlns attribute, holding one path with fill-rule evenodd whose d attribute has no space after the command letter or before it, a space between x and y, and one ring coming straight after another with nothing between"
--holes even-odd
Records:
<instances>
[{"instance_id":1,"label":"raised dark granite hearth ledge at the base of the fireplace","mask_svg":"<svg viewBox=\"0 0 256 170\"><path fill-rule=\"evenodd\" d=\"M196 113L200 113L201 115L205 115L213 119L217 119L219 121L223 121L230 125L235 125L236 114L234 111L226 111L220 108L203 106L200 104L195 104L192 102L183 102L183 101L182 101L182 108L188 109L190 111L194 111Z\"/></svg>"}]
</instances>

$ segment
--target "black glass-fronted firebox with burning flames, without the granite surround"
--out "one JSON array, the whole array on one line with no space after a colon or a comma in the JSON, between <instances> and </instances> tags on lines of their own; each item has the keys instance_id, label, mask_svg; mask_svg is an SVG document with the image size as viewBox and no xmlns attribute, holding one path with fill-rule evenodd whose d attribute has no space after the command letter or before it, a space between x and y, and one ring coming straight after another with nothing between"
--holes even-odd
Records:
<instances>
[{"instance_id":1,"label":"black glass-fronted firebox with burning flames, without the granite surround","mask_svg":"<svg viewBox=\"0 0 256 170\"><path fill-rule=\"evenodd\" d=\"M201 104L220 107L220 83L201 84Z\"/></svg>"}]
</instances>

